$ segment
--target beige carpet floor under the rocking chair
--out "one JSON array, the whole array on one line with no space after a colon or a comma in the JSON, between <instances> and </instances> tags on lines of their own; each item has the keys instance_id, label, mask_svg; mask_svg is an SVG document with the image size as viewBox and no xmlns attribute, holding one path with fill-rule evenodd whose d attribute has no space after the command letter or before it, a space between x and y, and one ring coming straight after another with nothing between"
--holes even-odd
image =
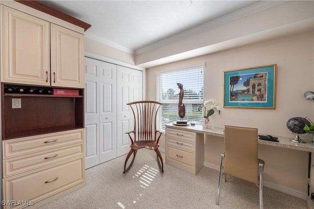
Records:
<instances>
[{"instance_id":1,"label":"beige carpet floor under the rocking chair","mask_svg":"<svg viewBox=\"0 0 314 209\"><path fill-rule=\"evenodd\" d=\"M228 176L217 206L218 171L203 167L192 175L164 162L161 173L156 153L141 149L132 168L123 174L125 157L87 169L84 187L41 209L259 208L259 188L254 184ZM306 209L306 201L264 187L264 209Z\"/></svg>"}]
</instances>

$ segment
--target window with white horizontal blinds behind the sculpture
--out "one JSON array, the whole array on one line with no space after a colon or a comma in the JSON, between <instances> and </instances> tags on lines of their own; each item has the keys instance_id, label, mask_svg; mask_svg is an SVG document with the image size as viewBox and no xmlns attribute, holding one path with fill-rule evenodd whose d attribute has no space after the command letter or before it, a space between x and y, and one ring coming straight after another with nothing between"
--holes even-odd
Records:
<instances>
[{"instance_id":1,"label":"window with white horizontal blinds behind the sculpture","mask_svg":"<svg viewBox=\"0 0 314 209\"><path fill-rule=\"evenodd\" d=\"M158 129L164 131L165 124L180 119L178 102L180 89L177 83L183 84L184 120L202 121L202 109L198 107L204 99L204 68L205 63L183 68L156 72L157 101L163 103L159 110ZM200 123L201 124L201 123Z\"/></svg>"}]
</instances>

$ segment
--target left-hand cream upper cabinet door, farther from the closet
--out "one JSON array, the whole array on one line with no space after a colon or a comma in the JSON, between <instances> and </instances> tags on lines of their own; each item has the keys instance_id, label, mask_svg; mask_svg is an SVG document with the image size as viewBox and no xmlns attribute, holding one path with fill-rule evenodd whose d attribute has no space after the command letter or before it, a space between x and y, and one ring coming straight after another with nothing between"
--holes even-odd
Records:
<instances>
[{"instance_id":1,"label":"left-hand cream upper cabinet door, farther from the closet","mask_svg":"<svg viewBox=\"0 0 314 209\"><path fill-rule=\"evenodd\" d=\"M50 85L49 22L1 5L1 82Z\"/></svg>"}]
</instances>

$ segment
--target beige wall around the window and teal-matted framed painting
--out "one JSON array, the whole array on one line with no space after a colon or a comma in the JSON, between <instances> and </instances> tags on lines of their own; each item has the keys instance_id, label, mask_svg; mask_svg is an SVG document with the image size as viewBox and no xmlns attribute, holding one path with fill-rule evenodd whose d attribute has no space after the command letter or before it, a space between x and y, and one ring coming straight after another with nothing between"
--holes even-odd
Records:
<instances>
[{"instance_id":1,"label":"beige wall around the window and teal-matted framed painting","mask_svg":"<svg viewBox=\"0 0 314 209\"><path fill-rule=\"evenodd\" d=\"M303 96L306 91L314 91L313 37L311 30L150 68L146 70L146 97L156 99L155 71L205 62L204 98L213 98L222 107L223 71L277 64L276 109L222 108L221 115L213 115L211 124L257 127L263 134L292 138L286 126L289 118L308 116L314 121L314 100ZM160 146L164 148L164 138ZM207 136L206 164L218 166L221 153L223 140ZM307 152L261 145L259 157L265 161L265 182L300 196L307 193Z\"/></svg>"}]
</instances>

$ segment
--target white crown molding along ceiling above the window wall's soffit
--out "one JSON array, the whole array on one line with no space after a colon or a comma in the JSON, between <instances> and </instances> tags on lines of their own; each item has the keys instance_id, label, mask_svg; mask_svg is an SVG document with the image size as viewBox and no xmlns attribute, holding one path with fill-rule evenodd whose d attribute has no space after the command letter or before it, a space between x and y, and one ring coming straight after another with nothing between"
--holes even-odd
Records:
<instances>
[{"instance_id":1,"label":"white crown molding along ceiling above the window wall's soffit","mask_svg":"<svg viewBox=\"0 0 314 209\"><path fill-rule=\"evenodd\" d=\"M276 6L276 5L284 3L284 2L287 2L287 0L262 0L262 1L258 1L254 4L246 6L244 8L241 8L239 10L236 10L234 12L231 12L231 13L224 15L224 16L221 16L219 18L216 18L216 19L209 21L207 23L203 23L201 25L195 26L195 27L190 28L188 30L185 30L181 33L178 33L176 35L173 35L173 36L170 36L168 38L157 41L151 45L136 49L136 50L134 50L134 55L138 55L138 54L153 50L153 49L158 48L160 46L165 46L167 44L171 44L173 42L176 42L176 41L182 40L184 38L193 36L195 34L210 30L210 29L217 27L219 25L235 21L237 19L240 19L242 17L254 14L256 12L260 12L262 10L271 8L273 6Z\"/></svg>"}]
</instances>

